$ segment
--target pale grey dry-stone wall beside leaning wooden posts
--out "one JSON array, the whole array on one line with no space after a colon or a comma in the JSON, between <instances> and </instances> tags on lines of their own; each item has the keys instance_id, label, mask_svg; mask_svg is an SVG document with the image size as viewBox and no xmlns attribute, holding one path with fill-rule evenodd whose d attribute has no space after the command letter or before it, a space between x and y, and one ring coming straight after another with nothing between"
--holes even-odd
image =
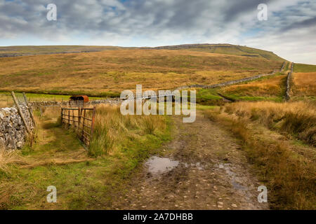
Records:
<instances>
[{"instance_id":1,"label":"pale grey dry-stone wall beside leaning wooden posts","mask_svg":"<svg viewBox=\"0 0 316 224\"><path fill-rule=\"evenodd\" d=\"M20 107L29 129L34 130L28 107L26 105ZM6 149L22 148L26 135L25 125L18 110L14 107L0 109L0 145Z\"/></svg>"}]
</instances>

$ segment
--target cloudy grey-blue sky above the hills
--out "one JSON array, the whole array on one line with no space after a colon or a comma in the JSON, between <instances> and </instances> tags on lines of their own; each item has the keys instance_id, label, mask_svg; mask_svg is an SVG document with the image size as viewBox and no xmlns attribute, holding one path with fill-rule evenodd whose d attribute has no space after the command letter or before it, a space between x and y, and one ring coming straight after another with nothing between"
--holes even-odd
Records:
<instances>
[{"instance_id":1,"label":"cloudy grey-blue sky above the hills","mask_svg":"<svg viewBox=\"0 0 316 224\"><path fill-rule=\"evenodd\" d=\"M57 20L46 6L57 6ZM258 4L268 20L258 20ZM232 43L316 64L316 1L0 0L0 45Z\"/></svg>"}]
</instances>

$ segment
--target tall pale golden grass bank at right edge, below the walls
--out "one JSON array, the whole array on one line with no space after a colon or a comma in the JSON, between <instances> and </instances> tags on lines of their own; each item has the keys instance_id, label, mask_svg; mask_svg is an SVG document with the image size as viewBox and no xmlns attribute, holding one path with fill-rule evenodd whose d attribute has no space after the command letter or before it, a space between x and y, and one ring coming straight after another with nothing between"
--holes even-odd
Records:
<instances>
[{"instance_id":1,"label":"tall pale golden grass bank at right edge, below the walls","mask_svg":"<svg viewBox=\"0 0 316 224\"><path fill-rule=\"evenodd\" d=\"M316 146L315 104L305 102L237 102L224 111L240 118L257 121L271 130L289 134Z\"/></svg>"}]
</instances>

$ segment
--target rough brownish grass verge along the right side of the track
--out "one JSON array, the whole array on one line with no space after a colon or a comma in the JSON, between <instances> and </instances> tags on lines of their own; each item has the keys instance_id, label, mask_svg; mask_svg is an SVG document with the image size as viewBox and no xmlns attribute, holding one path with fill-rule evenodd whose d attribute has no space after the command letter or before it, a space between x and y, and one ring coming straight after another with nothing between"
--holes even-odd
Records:
<instances>
[{"instance_id":1,"label":"rough brownish grass verge along the right side of the track","mask_svg":"<svg viewBox=\"0 0 316 224\"><path fill-rule=\"evenodd\" d=\"M244 110L242 105L245 104L252 103L238 103L238 108L231 106L230 112L237 112L233 114L225 113L225 109L204 113L242 140L249 162L268 188L271 209L315 209L315 161L293 151L289 141L275 137L268 129L258 132L261 125L246 118L251 115L251 110ZM268 122L268 117L263 120ZM255 120L258 119L261 118Z\"/></svg>"}]
</instances>

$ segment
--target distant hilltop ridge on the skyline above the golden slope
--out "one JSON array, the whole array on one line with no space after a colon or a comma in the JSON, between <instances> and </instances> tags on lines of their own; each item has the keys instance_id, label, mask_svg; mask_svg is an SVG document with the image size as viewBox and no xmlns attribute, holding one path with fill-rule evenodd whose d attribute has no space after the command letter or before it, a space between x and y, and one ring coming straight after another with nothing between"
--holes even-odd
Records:
<instances>
[{"instance_id":1,"label":"distant hilltop ridge on the skyline above the golden slope","mask_svg":"<svg viewBox=\"0 0 316 224\"><path fill-rule=\"evenodd\" d=\"M274 61L284 61L282 57L275 53L249 48L242 45L232 45L227 43L220 44L184 44L184 45L167 45L156 48L124 48L117 46L84 46L84 45L46 45L46 46L9 46L0 47L0 57L16 57L27 55L51 55L60 53L79 53L79 52L100 52L103 50L142 50L142 49L165 49L165 50L190 50L199 52L211 52L224 55L239 55L244 57L257 57L270 59Z\"/></svg>"}]
</instances>

